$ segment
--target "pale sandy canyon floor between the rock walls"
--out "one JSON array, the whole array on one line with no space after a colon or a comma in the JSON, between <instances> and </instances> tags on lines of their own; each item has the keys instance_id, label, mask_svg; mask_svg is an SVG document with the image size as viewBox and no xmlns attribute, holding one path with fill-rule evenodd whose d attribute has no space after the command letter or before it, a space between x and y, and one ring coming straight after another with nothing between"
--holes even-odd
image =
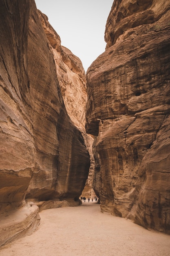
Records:
<instances>
[{"instance_id":1,"label":"pale sandy canyon floor between the rock walls","mask_svg":"<svg viewBox=\"0 0 170 256\"><path fill-rule=\"evenodd\" d=\"M100 212L99 204L47 209L30 236L0 249L0 256L170 256L170 236Z\"/></svg>"}]
</instances>

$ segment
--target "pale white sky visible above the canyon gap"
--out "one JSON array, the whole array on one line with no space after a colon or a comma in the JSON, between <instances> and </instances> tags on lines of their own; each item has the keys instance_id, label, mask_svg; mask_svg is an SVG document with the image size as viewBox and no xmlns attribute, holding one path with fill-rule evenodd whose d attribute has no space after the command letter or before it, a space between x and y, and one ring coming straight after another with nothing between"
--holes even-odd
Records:
<instances>
[{"instance_id":1,"label":"pale white sky visible above the canyon gap","mask_svg":"<svg viewBox=\"0 0 170 256\"><path fill-rule=\"evenodd\" d=\"M35 0L84 70L105 51L104 32L113 0Z\"/></svg>"}]
</instances>

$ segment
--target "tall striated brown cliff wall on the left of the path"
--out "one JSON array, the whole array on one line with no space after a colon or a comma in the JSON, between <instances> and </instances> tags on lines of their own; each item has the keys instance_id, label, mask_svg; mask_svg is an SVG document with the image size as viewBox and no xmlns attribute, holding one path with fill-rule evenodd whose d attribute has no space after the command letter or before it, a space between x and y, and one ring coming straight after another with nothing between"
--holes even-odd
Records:
<instances>
[{"instance_id":1,"label":"tall striated brown cliff wall on the left of the path","mask_svg":"<svg viewBox=\"0 0 170 256\"><path fill-rule=\"evenodd\" d=\"M75 204L88 176L90 157L80 130L67 114L53 51L35 2L2 0L0 20L0 216L4 220L14 210L22 213L28 208L25 197L27 202L53 200L56 207L62 200L64 206L66 201ZM71 53L63 49L68 58ZM81 62L77 66L83 74ZM25 214L30 224L21 223L24 233L40 221L38 207L31 209ZM5 234L1 245L8 240Z\"/></svg>"}]
</instances>

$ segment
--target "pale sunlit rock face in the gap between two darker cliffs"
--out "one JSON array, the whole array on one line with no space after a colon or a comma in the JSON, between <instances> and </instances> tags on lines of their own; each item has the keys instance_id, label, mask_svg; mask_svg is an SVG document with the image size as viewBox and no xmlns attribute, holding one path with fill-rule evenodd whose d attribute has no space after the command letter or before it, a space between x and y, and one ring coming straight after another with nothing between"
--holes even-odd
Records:
<instances>
[{"instance_id":1,"label":"pale sunlit rock face in the gap between two darker cliffs","mask_svg":"<svg viewBox=\"0 0 170 256\"><path fill-rule=\"evenodd\" d=\"M60 36L51 27L48 17L39 11L40 20L49 47L53 52L57 78L60 84L62 97L67 113L75 126L81 131L88 152L90 153L91 166L83 193L89 194L92 189L94 176L94 157L92 153L93 137L86 134L85 108L87 101L86 74L80 59L69 49L61 45Z\"/></svg>"}]
</instances>

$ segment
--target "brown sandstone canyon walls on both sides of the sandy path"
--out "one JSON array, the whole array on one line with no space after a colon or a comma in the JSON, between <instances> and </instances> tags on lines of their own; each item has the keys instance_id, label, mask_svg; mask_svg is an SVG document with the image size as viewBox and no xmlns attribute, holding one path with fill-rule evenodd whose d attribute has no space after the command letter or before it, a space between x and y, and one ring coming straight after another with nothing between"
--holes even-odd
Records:
<instances>
[{"instance_id":1,"label":"brown sandstone canyon walls on both sides of the sandy path","mask_svg":"<svg viewBox=\"0 0 170 256\"><path fill-rule=\"evenodd\" d=\"M0 246L92 187L102 212L170 234L169 1L115 0L87 74L34 0L0 17Z\"/></svg>"}]
</instances>

